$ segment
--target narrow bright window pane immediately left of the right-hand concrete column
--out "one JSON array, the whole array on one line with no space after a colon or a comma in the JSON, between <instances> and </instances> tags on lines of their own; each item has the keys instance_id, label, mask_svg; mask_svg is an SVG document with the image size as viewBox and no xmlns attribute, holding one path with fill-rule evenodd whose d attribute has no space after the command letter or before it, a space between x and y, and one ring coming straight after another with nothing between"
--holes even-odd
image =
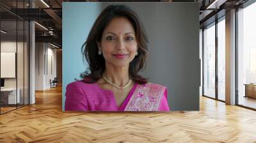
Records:
<instances>
[{"instance_id":1,"label":"narrow bright window pane immediately left of the right-hand concrete column","mask_svg":"<svg viewBox=\"0 0 256 143\"><path fill-rule=\"evenodd\" d=\"M218 99L225 101L225 19L218 23Z\"/></svg>"}]
</instances>

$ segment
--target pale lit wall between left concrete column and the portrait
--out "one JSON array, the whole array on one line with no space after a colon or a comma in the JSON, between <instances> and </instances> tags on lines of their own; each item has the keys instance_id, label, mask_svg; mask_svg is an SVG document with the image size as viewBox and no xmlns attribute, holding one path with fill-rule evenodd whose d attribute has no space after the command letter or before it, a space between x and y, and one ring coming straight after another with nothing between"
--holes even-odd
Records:
<instances>
[{"instance_id":1,"label":"pale lit wall between left concrete column and the portrait","mask_svg":"<svg viewBox=\"0 0 256 143\"><path fill-rule=\"evenodd\" d=\"M53 48L49 43L36 43L35 90L51 88L50 79L56 77L56 49Z\"/></svg>"}]
</instances>

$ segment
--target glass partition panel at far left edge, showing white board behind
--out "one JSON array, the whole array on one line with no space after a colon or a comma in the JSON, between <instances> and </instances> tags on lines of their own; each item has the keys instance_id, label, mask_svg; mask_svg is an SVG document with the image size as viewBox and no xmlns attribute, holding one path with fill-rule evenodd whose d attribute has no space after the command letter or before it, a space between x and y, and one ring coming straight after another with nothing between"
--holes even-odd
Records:
<instances>
[{"instance_id":1,"label":"glass partition panel at far left edge, showing white board behind","mask_svg":"<svg viewBox=\"0 0 256 143\"><path fill-rule=\"evenodd\" d=\"M17 100L17 22L1 21L1 114L16 109ZM19 95L19 94L18 94Z\"/></svg>"}]
</instances>

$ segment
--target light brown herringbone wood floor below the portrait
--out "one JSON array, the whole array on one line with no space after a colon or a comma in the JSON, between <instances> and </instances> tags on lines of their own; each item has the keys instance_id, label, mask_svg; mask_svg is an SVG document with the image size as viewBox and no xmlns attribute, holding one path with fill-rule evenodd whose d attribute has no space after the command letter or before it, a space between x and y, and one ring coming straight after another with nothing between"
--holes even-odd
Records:
<instances>
[{"instance_id":1,"label":"light brown herringbone wood floor below the portrait","mask_svg":"<svg viewBox=\"0 0 256 143\"><path fill-rule=\"evenodd\" d=\"M256 112L200 98L199 112L61 111L61 88L0 116L0 142L256 142Z\"/></svg>"}]
</instances>

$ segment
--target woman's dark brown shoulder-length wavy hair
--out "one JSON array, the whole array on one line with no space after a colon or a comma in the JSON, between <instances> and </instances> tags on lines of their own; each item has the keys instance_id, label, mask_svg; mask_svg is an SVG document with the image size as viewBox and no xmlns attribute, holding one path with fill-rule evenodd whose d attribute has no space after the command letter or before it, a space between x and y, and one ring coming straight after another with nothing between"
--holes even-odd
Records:
<instances>
[{"instance_id":1,"label":"woman's dark brown shoulder-length wavy hair","mask_svg":"<svg viewBox=\"0 0 256 143\"><path fill-rule=\"evenodd\" d=\"M145 29L138 18L138 15L129 7L120 4L107 6L93 24L87 40L82 46L83 60L84 58L89 64L89 68L81 73L81 78L86 83L97 82L102 77L106 66L104 57L98 54L97 42L101 41L102 33L108 26L109 22L116 17L125 17L128 19L135 31L136 41L138 43L138 55L129 64L129 76L138 84L146 84L148 79L138 75L138 72L145 70L146 59L148 55L148 37ZM90 80L88 80L90 79Z\"/></svg>"}]
</instances>

